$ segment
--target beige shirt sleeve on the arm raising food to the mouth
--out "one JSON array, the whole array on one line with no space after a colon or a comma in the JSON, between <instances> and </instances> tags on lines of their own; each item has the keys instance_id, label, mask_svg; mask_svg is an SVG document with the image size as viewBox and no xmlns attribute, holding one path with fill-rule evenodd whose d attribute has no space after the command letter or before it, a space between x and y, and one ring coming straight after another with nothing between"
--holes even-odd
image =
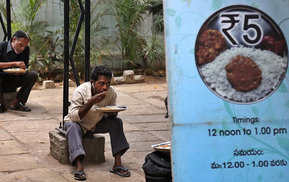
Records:
<instances>
[{"instance_id":1,"label":"beige shirt sleeve on the arm raising food to the mouth","mask_svg":"<svg viewBox=\"0 0 289 182\"><path fill-rule=\"evenodd\" d=\"M72 122L81 122L78 110L84 105L83 98L79 92L73 94L70 105L70 119Z\"/></svg>"}]
</instances>

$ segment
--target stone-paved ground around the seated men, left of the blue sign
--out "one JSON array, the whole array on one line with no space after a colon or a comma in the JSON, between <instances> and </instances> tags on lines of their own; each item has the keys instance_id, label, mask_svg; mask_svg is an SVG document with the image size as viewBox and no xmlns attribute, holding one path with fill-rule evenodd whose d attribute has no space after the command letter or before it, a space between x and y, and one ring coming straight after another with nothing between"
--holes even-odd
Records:
<instances>
[{"instance_id":1,"label":"stone-paved ground around the seated men, left of the blue sign","mask_svg":"<svg viewBox=\"0 0 289 182\"><path fill-rule=\"evenodd\" d=\"M157 86L157 88L155 88ZM145 181L142 164L153 151L153 144L170 141L168 119L164 118L166 83L116 85L118 105L129 109L120 112L130 149L122 162L131 177L110 173L114 164L110 138L105 136L105 162L85 161L86 181ZM75 87L69 88L69 99ZM75 167L61 164L49 155L49 131L56 131L62 121L62 88L32 90L27 106L32 112L8 110L0 113L0 179L1 181L75 181Z\"/></svg>"}]
</instances>

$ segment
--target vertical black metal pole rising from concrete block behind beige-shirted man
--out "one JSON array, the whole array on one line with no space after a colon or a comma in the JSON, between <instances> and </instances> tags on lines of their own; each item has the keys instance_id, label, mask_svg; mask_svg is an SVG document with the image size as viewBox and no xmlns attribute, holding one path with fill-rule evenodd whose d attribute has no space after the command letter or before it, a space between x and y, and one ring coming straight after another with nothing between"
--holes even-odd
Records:
<instances>
[{"instance_id":1,"label":"vertical black metal pole rising from concrete block behind beige-shirted man","mask_svg":"<svg viewBox=\"0 0 289 182\"><path fill-rule=\"evenodd\" d=\"M64 0L64 46L63 46L63 118L68 114L68 69L69 69L69 0Z\"/></svg>"}]
</instances>

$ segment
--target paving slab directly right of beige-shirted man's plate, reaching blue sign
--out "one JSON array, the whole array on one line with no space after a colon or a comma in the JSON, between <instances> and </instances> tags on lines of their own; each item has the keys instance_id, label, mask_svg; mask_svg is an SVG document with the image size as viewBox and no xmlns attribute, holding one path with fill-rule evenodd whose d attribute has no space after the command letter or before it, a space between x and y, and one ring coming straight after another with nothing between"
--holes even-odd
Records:
<instances>
[{"instance_id":1,"label":"paving slab directly right of beige-shirted man's plate, reaching blue sign","mask_svg":"<svg viewBox=\"0 0 289 182\"><path fill-rule=\"evenodd\" d=\"M166 114L166 110L155 107L149 104L143 105L127 105L129 107L127 110L119 112L118 116L126 116L126 115L149 115L149 114Z\"/></svg>"}]
</instances>

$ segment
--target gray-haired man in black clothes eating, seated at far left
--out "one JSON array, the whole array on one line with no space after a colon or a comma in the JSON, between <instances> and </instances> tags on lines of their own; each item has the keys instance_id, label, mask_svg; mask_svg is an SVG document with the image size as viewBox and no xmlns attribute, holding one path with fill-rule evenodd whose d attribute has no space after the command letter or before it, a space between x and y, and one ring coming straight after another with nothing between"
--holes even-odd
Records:
<instances>
[{"instance_id":1,"label":"gray-haired man in black clothes eating, seated at far left","mask_svg":"<svg viewBox=\"0 0 289 182\"><path fill-rule=\"evenodd\" d=\"M29 112L31 109L25 106L28 96L38 76L35 71L24 73L5 73L5 68L21 68L25 70L29 63L29 40L25 31L18 30L8 41L0 42L0 112L5 112L3 90L15 91L21 87L15 99L10 105L11 110Z\"/></svg>"}]
</instances>

